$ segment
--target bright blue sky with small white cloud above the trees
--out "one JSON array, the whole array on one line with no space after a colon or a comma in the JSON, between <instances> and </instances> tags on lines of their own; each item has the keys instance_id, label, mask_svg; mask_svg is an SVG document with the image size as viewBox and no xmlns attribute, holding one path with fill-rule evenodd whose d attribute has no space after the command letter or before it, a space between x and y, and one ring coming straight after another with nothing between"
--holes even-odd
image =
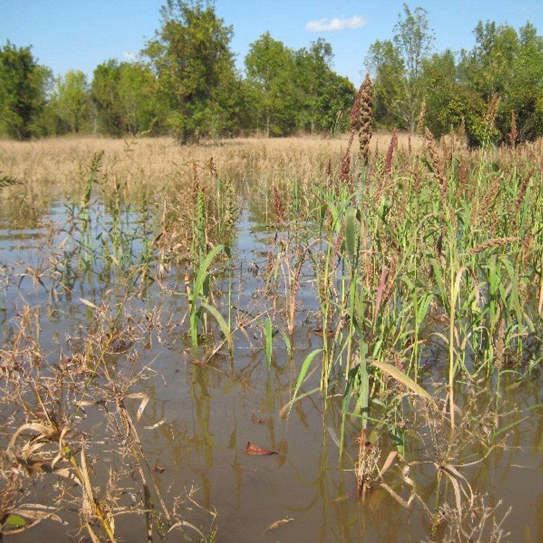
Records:
<instances>
[{"instance_id":1,"label":"bright blue sky with small white cloud above the trees","mask_svg":"<svg viewBox=\"0 0 543 543\"><path fill-rule=\"evenodd\" d=\"M83 70L92 78L108 59L128 60L160 27L163 0L0 0L0 45L33 46L40 64L55 75ZM356 86L364 58L375 40L392 37L403 1L389 0L216 0L215 10L233 26L231 49L237 65L250 43L269 31L287 47L309 47L323 37L332 46L334 69ZM543 35L543 0L435 0L408 2L426 9L435 31L434 48L471 49L478 21L507 23L516 30L527 21Z\"/></svg>"}]
</instances>

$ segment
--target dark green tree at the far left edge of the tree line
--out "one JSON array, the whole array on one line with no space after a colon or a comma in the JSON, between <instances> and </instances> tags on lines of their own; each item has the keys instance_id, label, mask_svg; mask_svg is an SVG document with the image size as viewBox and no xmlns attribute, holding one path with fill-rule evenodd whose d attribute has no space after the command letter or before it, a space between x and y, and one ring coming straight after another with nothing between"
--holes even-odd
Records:
<instances>
[{"instance_id":1,"label":"dark green tree at the far left edge of the tree line","mask_svg":"<svg viewBox=\"0 0 543 543\"><path fill-rule=\"evenodd\" d=\"M50 70L37 64L30 47L10 41L0 48L0 132L17 140L39 134Z\"/></svg>"}]
</instances>

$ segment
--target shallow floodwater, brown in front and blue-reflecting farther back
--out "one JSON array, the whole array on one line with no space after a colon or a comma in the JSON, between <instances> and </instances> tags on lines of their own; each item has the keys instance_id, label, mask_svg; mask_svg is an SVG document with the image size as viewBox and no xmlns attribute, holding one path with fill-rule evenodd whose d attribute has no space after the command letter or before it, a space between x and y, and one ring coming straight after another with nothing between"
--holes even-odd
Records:
<instances>
[{"instance_id":1,"label":"shallow floodwater, brown in front and blue-reflecting farther back","mask_svg":"<svg viewBox=\"0 0 543 543\"><path fill-rule=\"evenodd\" d=\"M449 456L441 458L439 444L444 436L439 421L432 425L421 405L406 397L401 447L404 460L394 463L378 481L386 483L390 492L376 485L362 500L357 496L354 472L358 454L355 439L361 425L356 417L345 419L344 451L340 454L342 397L330 387L326 399L313 392L288 411L302 362L323 342L315 332L320 326L319 306L311 267L302 268L300 275L292 345L287 345L281 333L275 334L268 367L264 315L279 314L285 304L284 293L267 293L264 273L276 233L259 222L247 205L242 206L231 261L212 287L215 305L225 318L229 315L235 330L233 356L226 343L216 350L218 342L212 339L202 339L195 356L188 333L185 270L172 268L161 284L151 282L137 296L124 300L119 329L124 327L133 334L116 339L117 344L110 346L103 361L112 375L118 375L113 382L119 388L126 384L123 405L137 427L148 482L153 479L166 507L171 510L178 504L182 519L203 534L216 530L216 541L441 541L447 540L446 517L436 523L432 536L432 513L440 485L440 495L447 496L453 511L457 495L462 500L464 493L476 495L472 509L462 512L470 517L471 526L485 519L486 510L496 508L486 521L490 532L493 523L499 524L505 517L500 526L509 535L493 541L543 541L539 369L520 384L503 374L497 393L498 384L491 382L488 387L492 390L484 390L485 385L478 394L458 402L467 419L476 419L470 402L476 403L479 414L485 409L489 414L498 413L494 419L484 419L488 425L485 432L503 429L502 435L507 434L507 438L502 443L496 436L496 446L491 450L477 445L478 439L468 439L481 427L478 423L470 426L467 420L465 433L458 436ZM111 224L105 207L97 204L91 212L93 224L97 215L102 217L102 228ZM138 219L136 212L130 214L127 228L140 229L144 236L146 226ZM60 254L77 238L64 230L67 222L66 207L51 203L47 216L33 228L17 228L6 220L0 228L2 342L6 348L12 345L24 320L21 315L27 312L34 337L39 339L45 372L47 367L81 352L85 338L99 328L100 315L110 318L117 309L116 300L119 305L123 300L122 293L108 292L115 287L116 272L115 267L105 269L105 260L89 265L92 271L76 278L51 256ZM92 230L94 242L99 235L105 236ZM136 240L130 254L143 250L143 242ZM105 259L103 253L100 258ZM53 261L54 269L50 267ZM66 288L58 286L61 276ZM112 307L100 313L103 299L108 299ZM153 319L156 321L149 325ZM274 320L274 328L277 322L281 323L281 318ZM210 327L214 330L212 337L220 337L211 318ZM430 357L426 361L431 368L435 368L435 362ZM313 368L298 396L319 389L319 356L310 372ZM72 406L72 430L78 433L78 442L85 443L92 484L100 499L111 484L111 473L118 474L119 488L110 492L123 510L115 521L119 540L141 541L146 521L134 509L141 508L144 500L142 485L135 466L122 463L127 455L122 456L119 450L130 445L112 415L119 390L111 389L100 375L102 371L98 370L94 379L103 381L104 396L85 397L80 392L74 398L66 393L65 400L85 399L79 410ZM432 371L428 370L421 381L428 389L435 377ZM81 373L82 380L90 378L88 372ZM143 411L142 393L148 398ZM4 402L2 409L6 447L25 415L9 403ZM376 406L376 419L378 410ZM371 447L378 466L383 466L396 446L387 428L375 427L378 440ZM276 454L249 454L249 443ZM449 475L454 475L447 476L444 466ZM26 503L54 506L55 513L69 524L44 520L19 535L18 541L83 540L85 532L79 531L75 506L79 489L73 486L66 491L64 503L50 503L58 500L52 487L59 477L47 473L26 477L31 487ZM191 488L194 493L188 499ZM176 497L180 497L178 502ZM156 506L156 496L153 499ZM408 502L408 507L401 501ZM439 505L443 505L443 499ZM185 533L195 541L200 539L188 525ZM168 540L182 540L180 532L174 532Z\"/></svg>"}]
</instances>

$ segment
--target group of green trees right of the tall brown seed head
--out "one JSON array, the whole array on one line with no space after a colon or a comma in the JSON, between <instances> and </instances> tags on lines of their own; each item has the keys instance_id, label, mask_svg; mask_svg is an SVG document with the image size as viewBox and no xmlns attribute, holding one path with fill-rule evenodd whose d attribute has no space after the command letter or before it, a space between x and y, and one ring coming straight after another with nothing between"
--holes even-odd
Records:
<instances>
[{"instance_id":1,"label":"group of green trees right of the tall brown seed head","mask_svg":"<svg viewBox=\"0 0 543 543\"><path fill-rule=\"evenodd\" d=\"M403 14L392 40L377 40L365 59L374 77L375 121L381 127L414 131L421 113L435 136L462 125L471 144L489 135L509 141L543 136L543 39L526 23L519 31L508 24L479 21L472 49L435 53L427 13ZM498 105L490 130L485 115Z\"/></svg>"}]
</instances>

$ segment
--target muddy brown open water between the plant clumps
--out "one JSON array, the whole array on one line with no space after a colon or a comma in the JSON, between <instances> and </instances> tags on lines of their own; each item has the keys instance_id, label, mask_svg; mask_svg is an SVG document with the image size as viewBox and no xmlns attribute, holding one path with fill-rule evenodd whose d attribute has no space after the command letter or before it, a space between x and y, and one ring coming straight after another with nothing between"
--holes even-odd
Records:
<instances>
[{"instance_id":1,"label":"muddy brown open water between the plant clumps","mask_svg":"<svg viewBox=\"0 0 543 543\"><path fill-rule=\"evenodd\" d=\"M65 220L63 213L62 205L54 204L45 220L61 224ZM255 269L251 264L257 264L261 272L266 268L266 252L273 235L252 217L247 211L243 213L232 246L234 319L242 318L244 311L256 312L258 304L261 310L262 300L266 299L263 274L254 274L250 269ZM45 239L45 229L15 229L2 223L0 262L4 271L0 286L0 322L2 341L9 344L21 307L43 307L41 349L48 353L49 361L54 361L59 351L66 349L66 336L77 336L91 325L93 312L74 296L63 296L51 302L44 288L30 276L23 276L30 267L45 266L41 245ZM171 270L167 281L170 292L182 291L181 273L176 275L176 270ZM415 481L420 501L413 500L409 508L402 507L380 488L372 490L362 501L356 496L353 472L357 454L355 438L360 431L355 418L348 419L345 452L342 456L339 454L341 398L332 394L325 402L319 393L314 393L296 402L288 416L282 412L292 399L302 361L321 345L321 338L314 333L318 326L318 305L312 281L310 270L307 270L297 296L292 356L288 355L285 342L277 334L269 369L263 349L263 318L256 325L247 326L252 348L247 337L238 331L233 358L223 348L206 365L200 365L194 363L189 348L186 321L175 325L183 322L182 315L186 310L182 296L170 295L165 299L165 291L155 287L148 299L130 302L134 304L135 314L160 307L165 323L137 359L138 365L149 365L153 374L131 387L131 392L144 392L150 399L138 431L149 465L163 469L160 473L153 472L153 477L169 507L175 496L186 496L191 487L197 489L193 498L199 505L185 501L181 516L206 534L210 529L217 529L217 541L392 543L425 540L430 537L431 521L424 505L432 511L437 484L435 466L431 462L411 468L409 476ZM226 290L227 286L228 282L223 279L215 288ZM94 288L96 284L81 283L77 293L80 298L92 298ZM99 294L99 288L95 294ZM225 294L219 293L217 300L224 311ZM271 300L267 303L271 309ZM204 342L200 348L202 357L212 347ZM128 352L112 356L109 361L112 367L127 368L134 364ZM315 364L317 361L318 358ZM318 387L319 380L320 371L317 370L303 384L300 393ZM512 425L504 446L488 453L467 444L454 460L457 465L465 466L459 470L473 490L484 496L485 506L496 507L501 502L496 509L497 522L511 508L503 522L504 531L509 535L502 541L543 541L540 371L534 371L519 386L514 386L513 381L509 384L512 386L507 386L507 376L504 376L497 399L495 395L489 396L501 413L508 413L500 419L500 425ZM495 383L490 383L489 387L494 388ZM127 399L125 403L135 418L139 402ZM3 405L3 421L9 418L12 408ZM144 428L160 420L165 422L150 430ZM406 434L406 457L413 461L431 460L427 447L414 438L420 430L416 425L423 425L420 416L414 420L418 422L414 422L409 428L411 433ZM109 469L120 471L123 468L116 465L115 449L119 444L106 427L102 406L86 408L86 418L80 424L89 435L88 456L92 457L96 474L93 483L103 490L104 474ZM246 452L248 442L277 454L250 455ZM5 438L3 443L5 445ZM378 445L383 451L379 460L382 464L388 452L394 449L386 431L380 433ZM409 496L411 489L399 470L387 473L386 477L398 495ZM34 500L47 504L54 478L53 475L33 480L29 477ZM137 481L132 483L133 489L126 492L132 493L130 499L137 503L141 499L141 488ZM447 495L452 498L453 485L446 477L442 484L449 485ZM451 506L454 507L453 499ZM79 518L72 507L73 504L68 504L57 512L69 522L67 526L46 520L18 535L17 541L79 540L85 533L78 531ZM216 512L216 519L213 520L209 511ZM481 511L471 513L475 521L482 516ZM289 521L266 531L281 520ZM493 519L489 519L489 526L492 522ZM439 527L434 540L443 540L445 524ZM122 541L144 540L143 515L118 515L116 532ZM186 534L198 540L198 535L190 528L186 528ZM155 535L155 539L159 540L158 536ZM182 537L176 532L168 540L181 541Z\"/></svg>"}]
</instances>

